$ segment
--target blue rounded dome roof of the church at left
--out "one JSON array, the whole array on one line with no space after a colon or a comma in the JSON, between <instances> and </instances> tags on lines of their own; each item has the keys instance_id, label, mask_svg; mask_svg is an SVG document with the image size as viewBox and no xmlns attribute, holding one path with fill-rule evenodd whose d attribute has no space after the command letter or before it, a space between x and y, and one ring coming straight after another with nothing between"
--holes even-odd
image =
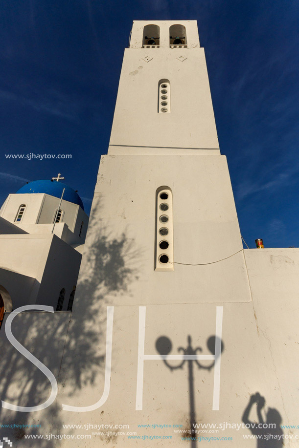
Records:
<instances>
[{"instance_id":1,"label":"blue rounded dome roof of the church at left","mask_svg":"<svg viewBox=\"0 0 299 448\"><path fill-rule=\"evenodd\" d=\"M73 204L80 205L82 210L84 210L83 202L78 193L76 193L72 188L68 185L63 184L62 182L57 182L54 180L53 182L50 180L34 180L33 182L29 182L17 193L46 193L50 196L55 196L61 198L62 191L65 188L65 192L63 195L64 201L72 202Z\"/></svg>"}]
</instances>

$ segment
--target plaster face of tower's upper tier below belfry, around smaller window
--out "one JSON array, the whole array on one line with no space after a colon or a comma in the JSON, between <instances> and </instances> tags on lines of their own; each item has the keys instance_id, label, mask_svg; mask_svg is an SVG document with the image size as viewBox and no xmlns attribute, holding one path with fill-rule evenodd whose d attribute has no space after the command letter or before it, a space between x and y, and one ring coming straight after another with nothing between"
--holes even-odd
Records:
<instances>
[{"instance_id":1,"label":"plaster face of tower's upper tier below belfry, around smaller window","mask_svg":"<svg viewBox=\"0 0 299 448\"><path fill-rule=\"evenodd\" d=\"M182 55L183 62L177 59ZM171 85L171 113L163 114L158 83L164 78ZM203 48L125 50L109 154L119 147L219 149Z\"/></svg>"}]
</instances>

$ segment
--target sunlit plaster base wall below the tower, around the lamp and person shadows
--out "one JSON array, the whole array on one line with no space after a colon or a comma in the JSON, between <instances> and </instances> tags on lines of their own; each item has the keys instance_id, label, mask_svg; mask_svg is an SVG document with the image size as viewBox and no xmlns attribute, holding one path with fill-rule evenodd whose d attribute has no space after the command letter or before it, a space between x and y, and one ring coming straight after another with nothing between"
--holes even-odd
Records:
<instances>
[{"instance_id":1,"label":"sunlit plaster base wall below the tower, around the lamp and person shadows","mask_svg":"<svg viewBox=\"0 0 299 448\"><path fill-rule=\"evenodd\" d=\"M113 239L112 239L113 240ZM224 351L221 356L221 386L220 386L220 409L212 410L213 396L213 373L198 369L194 365L194 400L197 423L230 424L242 423L243 412L248 405L250 396L259 392L266 399L265 409L275 408L281 418L282 424L296 424L299 417L298 411L298 249L266 249L245 250L248 274L251 281L252 301L245 302L218 302L218 303L188 303L188 291L185 295L185 303L173 304L146 304L146 329L145 329L145 354L157 354L156 341L161 336L167 336L172 342L171 354L178 354L178 347L187 345L187 336L192 338L192 346L202 348L202 354L209 354L207 339L215 334L216 306L224 306L223 310L223 344ZM91 260L90 260L91 261ZM90 265L89 265L90 266ZM115 266L114 266L115 267ZM125 267L128 268L127 263ZM197 268L198 271L201 269ZM88 277L89 275L89 277ZM60 434L91 434L92 430L82 429L66 430L63 424L129 424L131 431L137 431L138 435L172 435L173 439L160 441L161 447L186 446L181 440L181 435L174 433L172 428L138 428L138 424L184 424L188 426L188 376L187 367L170 371L162 361L144 362L143 380L143 410L135 410L136 384L137 384L137 360L138 360L138 305L144 305L142 297L136 306L116 305L113 300L101 297L101 293L107 288L104 284L93 289L93 296L86 296L90 292L87 288L87 280L93 284L94 273L91 271L81 272L81 281L84 289L78 290L74 303L74 311L69 322L69 334L66 340L68 350L68 362L62 364L59 377L59 397L57 404L48 410L35 413L33 420L43 422L43 427L38 431L40 434L48 432L59 432ZM236 277L238 277L236 275ZM106 273L106 280L109 278ZM131 293L131 284L124 297ZM90 308L85 306L89 302ZM102 358L105 354L106 344L106 322L105 312L107 305L115 305L114 331L113 331L113 358L112 375L109 397L100 408L86 413L72 413L61 410L62 404L69 405L92 405L103 393L105 364ZM59 313L55 314L56 315ZM37 319L30 323L30 331L39 335L43 334L43 344L47 341L49 353L56 346L54 334L43 333L40 325L48 328L50 316ZM21 317L20 320L21 321ZM43 321L43 323L41 323ZM26 322L26 325L28 323ZM84 331L82 326L83 325ZM15 327L14 334L19 340L25 341L23 335L24 325ZM26 327L27 328L27 327ZM56 328L56 325L53 325ZM62 327L61 330L62 331ZM64 332L66 329L64 328ZM84 388L74 386L73 367L83 355L82 347L76 350L76 341L80 345L82 334L89 332L90 340L85 340L85 350L92 350L91 370L94 376L88 379L88 375L81 367L81 381L85 381ZM60 333L63 339L65 333ZM1 330L0 337L4 338ZM5 343L5 341L4 341ZM42 345L44 346L44 345ZM45 345L46 346L46 345ZM31 347L35 350L36 345L32 340ZM72 348L71 348L72 347ZM60 355L59 355L60 356ZM60 358L61 359L61 358ZM58 358L49 361L44 358L47 366L53 369L57 377ZM21 359L18 370L24 371L27 366ZM201 362L207 365L209 362ZM171 361L171 365L178 362ZM24 376L22 381L25 381ZM48 385L44 378L36 379L39 384L45 384L43 396L36 394L24 396L22 400L14 403L29 405L36 403L37 397L46 399L49 393ZM42 382L42 383L40 383ZM1 382L0 382L1 383ZM3 378L2 378L3 383ZM21 383L22 384L22 383ZM4 397L19 397L17 393L20 383L15 377ZM40 387L43 390L43 388ZM2 395L3 396L3 395ZM2 398L2 397L1 397ZM58 411L58 413L57 413ZM54 426L51 427L51 417L46 423L45 416L53 415ZM2 411L1 418L6 421L7 417L18 421L19 416L12 415L10 411ZM250 419L257 421L256 410L253 408ZM55 428L55 429L54 429ZM26 433L30 433L26 430ZM297 431L284 429L285 435L295 435ZM251 434L248 429L227 429L220 431L217 436L232 436L229 442L231 447L256 448L256 440L243 439L243 435ZM202 434L204 435L204 434ZM211 435L211 434L210 434ZM43 447L39 442L25 439L14 440L14 447ZM30 442L30 443L29 443ZM138 446L147 447L148 441L138 441ZM152 443L152 442L151 442ZM72 447L73 441L55 441L56 447ZM129 440L125 436L107 437L92 436L91 440L84 440L87 448L107 444L111 447L135 447L136 440ZM45 445L46 446L46 445ZM51 446L51 445L49 445ZM189 446L189 445L187 445ZM226 446L224 442L214 442L214 447ZM271 445L269 445L271 446ZM296 440L285 440L284 446L288 448L297 447Z\"/></svg>"}]
</instances>

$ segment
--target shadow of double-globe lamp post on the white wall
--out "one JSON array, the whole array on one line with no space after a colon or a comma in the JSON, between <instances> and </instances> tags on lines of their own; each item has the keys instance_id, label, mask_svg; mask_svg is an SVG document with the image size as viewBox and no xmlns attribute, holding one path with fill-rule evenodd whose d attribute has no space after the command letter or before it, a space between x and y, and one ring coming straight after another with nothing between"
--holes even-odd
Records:
<instances>
[{"instance_id":1,"label":"shadow of double-globe lamp post on the white wall","mask_svg":"<svg viewBox=\"0 0 299 448\"><path fill-rule=\"evenodd\" d=\"M156 349L158 351L158 353L163 356L163 362L165 363L165 365L171 370L176 370L176 369L183 369L184 363L187 361L187 368L188 368L188 384L189 384L189 406L190 406L190 437L195 439L196 438L196 433L194 430L194 424L196 423L196 418L195 418L195 397L194 397L194 375L193 375L193 363L195 362L197 367L199 369L206 369L206 370L211 370L212 367L214 366L215 363L215 345L216 345L216 336L211 336L210 338L208 338L207 340L207 347L209 349L209 351L212 353L212 355L198 355L198 352L202 352L202 348L201 347L196 347L196 348L192 348L191 345L191 336L189 335L187 338L188 341L188 345L186 348L184 347L179 347L178 351L182 352L183 356L182 359L183 361L176 365L173 366L171 364L169 364L167 362L167 355L169 355L169 353L171 352L172 349L172 343L170 341L169 338L167 338L166 336L161 336L159 339L157 339L156 341ZM223 351L223 342L221 341L221 352ZM170 357L169 357L170 358ZM173 357L171 357L173 358ZM179 357L176 357L177 359ZM210 365L202 365L199 362L199 359L211 359L212 363ZM191 448L196 448L197 444L196 444L196 440L191 440Z\"/></svg>"}]
</instances>

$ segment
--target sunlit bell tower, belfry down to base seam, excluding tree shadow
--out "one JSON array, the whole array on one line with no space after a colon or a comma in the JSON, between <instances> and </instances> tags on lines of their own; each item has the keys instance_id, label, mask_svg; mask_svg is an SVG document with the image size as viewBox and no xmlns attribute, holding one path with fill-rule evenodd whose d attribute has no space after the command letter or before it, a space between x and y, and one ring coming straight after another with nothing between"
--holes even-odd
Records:
<instances>
[{"instance_id":1,"label":"sunlit bell tower, belfry down to base seam, excluding tree shadow","mask_svg":"<svg viewBox=\"0 0 299 448\"><path fill-rule=\"evenodd\" d=\"M134 21L91 214L134 241L132 303L250 299L196 21Z\"/></svg>"}]
</instances>

